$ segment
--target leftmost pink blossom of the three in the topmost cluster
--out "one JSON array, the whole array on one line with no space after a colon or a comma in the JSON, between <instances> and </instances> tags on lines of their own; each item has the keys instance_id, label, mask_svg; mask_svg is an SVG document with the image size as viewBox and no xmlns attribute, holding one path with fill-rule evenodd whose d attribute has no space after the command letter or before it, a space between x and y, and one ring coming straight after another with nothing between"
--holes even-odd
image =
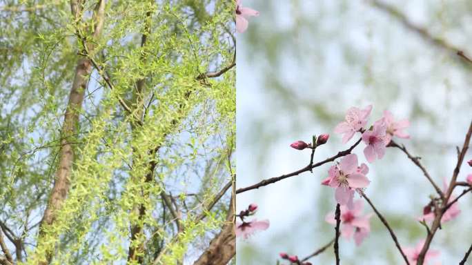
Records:
<instances>
[{"instance_id":1,"label":"leftmost pink blossom of the three in the topmost cluster","mask_svg":"<svg viewBox=\"0 0 472 265\"><path fill-rule=\"evenodd\" d=\"M349 108L346 112L345 121L337 124L335 133L344 134L342 143L346 144L356 132L360 131L366 126L368 115L371 115L372 105L366 106L363 110L360 108Z\"/></svg>"}]
</instances>

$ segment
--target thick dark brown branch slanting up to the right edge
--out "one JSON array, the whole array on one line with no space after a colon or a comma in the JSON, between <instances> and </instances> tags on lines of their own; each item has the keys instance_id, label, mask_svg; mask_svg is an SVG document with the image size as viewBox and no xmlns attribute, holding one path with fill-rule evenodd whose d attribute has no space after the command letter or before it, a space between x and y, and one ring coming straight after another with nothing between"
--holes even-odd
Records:
<instances>
[{"instance_id":1,"label":"thick dark brown branch slanting up to the right edge","mask_svg":"<svg viewBox=\"0 0 472 265\"><path fill-rule=\"evenodd\" d=\"M462 162L464 161L464 157L467 153L467 150L469 149L469 143L471 141L471 136L472 136L472 121L471 124L469 125L469 130L467 130L466 137L464 139L464 144L462 145L462 149L460 150L460 153L458 155L458 163L455 165L454 171L453 171L453 176L451 178L451 182L449 182L449 188L446 191L445 199L442 200L442 208L446 208L449 198L451 198L451 195L453 193L453 189L455 188L455 183L458 179L458 175L460 172L460 166L462 166ZM441 218L442 215L444 214L444 211L441 210L439 215L436 215L433 221L433 224L431 225L431 233L426 236L426 240L424 241L424 246L418 255L417 259L417 265L423 265L424 262L424 255L426 255L426 252L429 249L429 245L433 241L433 237L437 231L437 228L440 228L441 226Z\"/></svg>"}]
</instances>

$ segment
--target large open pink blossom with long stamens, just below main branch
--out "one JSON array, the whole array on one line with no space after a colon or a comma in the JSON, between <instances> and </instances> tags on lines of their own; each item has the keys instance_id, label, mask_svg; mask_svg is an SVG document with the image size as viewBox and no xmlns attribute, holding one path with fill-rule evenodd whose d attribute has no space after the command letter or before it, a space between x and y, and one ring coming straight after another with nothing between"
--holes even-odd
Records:
<instances>
[{"instance_id":1,"label":"large open pink blossom with long stamens, just below main branch","mask_svg":"<svg viewBox=\"0 0 472 265\"><path fill-rule=\"evenodd\" d=\"M322 184L336 189L337 203L348 205L350 208L352 208L350 202L353 200L355 188L366 188L371 182L357 168L357 155L346 155L341 159L340 164L329 168L328 178L322 181Z\"/></svg>"}]
</instances>

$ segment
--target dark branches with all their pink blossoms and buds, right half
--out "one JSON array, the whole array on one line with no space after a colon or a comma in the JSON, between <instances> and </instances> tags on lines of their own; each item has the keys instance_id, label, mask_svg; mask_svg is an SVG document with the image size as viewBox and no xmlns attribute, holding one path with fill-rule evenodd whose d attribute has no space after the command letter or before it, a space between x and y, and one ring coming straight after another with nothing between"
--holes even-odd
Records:
<instances>
[{"instance_id":1,"label":"dark branches with all their pink blossoms and buds, right half","mask_svg":"<svg viewBox=\"0 0 472 265\"><path fill-rule=\"evenodd\" d=\"M449 181L444 179L443 188L441 189L435 183L428 170L426 170L426 167L420 162L420 157L411 155L404 145L397 144L397 142L393 140L394 137L401 139L410 138L410 135L405 131L410 125L408 119L396 120L391 112L385 110L384 115L380 119L374 121L372 126L367 126L371 110L372 106L366 106L362 109L356 107L349 108L345 120L334 128L335 133L342 135L342 144L348 143L357 133L360 134L360 138L355 141L355 144L350 148L315 163L313 162L315 159L315 150L328 142L329 135L313 136L311 143L295 141L291 144L292 148L311 151L307 166L295 170L292 173L271 177L259 181L256 184L239 188L236 190L236 193L239 194L249 190L257 190L289 177L302 175L302 173L308 171L313 172L314 168L322 166L323 164L333 163L328 170L327 177L321 180L321 184L334 189L334 198L337 203L336 212L326 215L325 221L335 226L335 239L322 248L321 251L315 252L316 255L325 251L334 242L335 261L336 264L340 264L338 237L342 239L353 238L356 246L360 246L370 233L370 220L375 214L389 231L405 264L427 264L430 259L440 255L439 251L429 249L431 241L437 232L437 228L440 228L442 223L449 222L458 217L460 214L458 205L459 199L472 191L472 174L466 177L466 181L458 181L460 166L463 164L466 150L469 147L472 134L472 122L466 133L463 147L461 149L458 148L458 162L453 171L453 177ZM426 238L418 242L416 246L402 247L395 231L389 225L389 222L380 213L377 207L375 207L372 200L366 196L366 190L371 184L371 179L367 177L369 168L367 164L359 164L357 155L352 153L361 142L364 144L363 153L368 164L373 164L378 159L382 159L388 147L401 150L406 157L422 171L422 175L426 177L429 184L431 184L435 190L435 193L437 193L437 195L431 195L431 201L424 206L422 216L417 217L417 222L420 222L420 224L426 227ZM469 161L468 164L472 166L472 160ZM458 196L453 195L454 188L461 186L465 188L462 193ZM360 199L355 199L356 194L359 195ZM363 199L371 206L374 213L363 213ZM253 210L251 210L251 206L249 206L238 216L244 218L252 213ZM244 239L248 239L249 236L257 230L266 230L268 228L268 221L264 221L264 224L259 224L256 220L246 223L244 219L242 219L242 221L243 223L239 223L236 229L237 237L239 234L239 237L243 237ZM240 230L239 233L238 230ZM469 253L470 251L466 253L464 259L469 256ZM279 256L283 260L290 262L290 264L311 264L307 262L311 256L305 259L299 259L297 255L288 255L286 253L280 253Z\"/></svg>"}]
</instances>

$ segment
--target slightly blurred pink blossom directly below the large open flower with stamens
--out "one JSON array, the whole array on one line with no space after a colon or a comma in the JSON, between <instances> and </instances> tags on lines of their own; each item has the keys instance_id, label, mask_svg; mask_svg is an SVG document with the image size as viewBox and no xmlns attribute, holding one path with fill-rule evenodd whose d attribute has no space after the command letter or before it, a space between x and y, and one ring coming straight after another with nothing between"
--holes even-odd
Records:
<instances>
[{"instance_id":1,"label":"slightly blurred pink blossom directly below the large open flower with stamens","mask_svg":"<svg viewBox=\"0 0 472 265\"><path fill-rule=\"evenodd\" d=\"M354 237L356 246L360 246L364 238L371 232L370 219L372 213L362 216L362 209L364 208L364 202L361 199L357 199L354 202L353 209L348 209L346 206L341 206L341 235L345 239L351 239ZM336 224L335 214L329 213L326 215L326 222L330 224Z\"/></svg>"}]
</instances>

